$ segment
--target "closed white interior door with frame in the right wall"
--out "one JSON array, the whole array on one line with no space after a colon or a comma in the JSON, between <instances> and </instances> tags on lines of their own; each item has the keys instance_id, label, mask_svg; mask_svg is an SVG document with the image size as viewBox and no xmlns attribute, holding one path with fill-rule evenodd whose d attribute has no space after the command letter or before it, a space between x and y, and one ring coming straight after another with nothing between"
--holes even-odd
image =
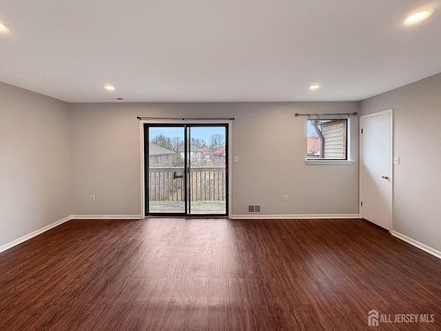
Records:
<instances>
[{"instance_id":1,"label":"closed white interior door with frame in the right wall","mask_svg":"<svg viewBox=\"0 0 441 331\"><path fill-rule=\"evenodd\" d=\"M391 230L392 110L360 117L360 216Z\"/></svg>"}]
</instances>

